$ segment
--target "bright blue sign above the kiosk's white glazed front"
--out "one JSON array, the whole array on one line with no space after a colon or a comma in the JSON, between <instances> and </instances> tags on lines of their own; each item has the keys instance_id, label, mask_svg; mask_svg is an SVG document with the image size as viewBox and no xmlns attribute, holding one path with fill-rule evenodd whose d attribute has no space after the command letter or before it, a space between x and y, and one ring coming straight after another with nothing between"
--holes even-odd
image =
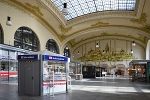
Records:
<instances>
[{"instance_id":1,"label":"bright blue sign above the kiosk's white glazed front","mask_svg":"<svg viewBox=\"0 0 150 100\"><path fill-rule=\"evenodd\" d=\"M44 60L67 62L68 58L67 57L60 57L60 56L44 55Z\"/></svg>"}]
</instances>

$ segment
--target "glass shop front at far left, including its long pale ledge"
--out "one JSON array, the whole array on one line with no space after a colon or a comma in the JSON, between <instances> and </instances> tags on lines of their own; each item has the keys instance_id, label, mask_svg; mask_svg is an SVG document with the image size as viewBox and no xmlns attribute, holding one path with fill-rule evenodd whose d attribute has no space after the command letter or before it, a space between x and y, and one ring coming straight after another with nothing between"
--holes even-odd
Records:
<instances>
[{"instance_id":1,"label":"glass shop front at far left, including its long pale ledge","mask_svg":"<svg viewBox=\"0 0 150 100\"><path fill-rule=\"evenodd\" d=\"M27 50L0 44L0 82L18 79L17 55L26 54Z\"/></svg>"}]
</instances>

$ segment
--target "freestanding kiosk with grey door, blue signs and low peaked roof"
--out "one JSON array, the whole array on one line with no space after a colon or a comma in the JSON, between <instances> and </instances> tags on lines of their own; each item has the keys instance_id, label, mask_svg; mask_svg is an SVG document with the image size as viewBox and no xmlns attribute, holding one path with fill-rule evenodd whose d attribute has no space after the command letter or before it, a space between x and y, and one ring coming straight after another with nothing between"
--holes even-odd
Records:
<instances>
[{"instance_id":1,"label":"freestanding kiosk with grey door, blue signs and low peaked roof","mask_svg":"<svg viewBox=\"0 0 150 100\"><path fill-rule=\"evenodd\" d=\"M69 62L69 58L47 50L18 55L18 93L42 96L68 92Z\"/></svg>"}]
</instances>

